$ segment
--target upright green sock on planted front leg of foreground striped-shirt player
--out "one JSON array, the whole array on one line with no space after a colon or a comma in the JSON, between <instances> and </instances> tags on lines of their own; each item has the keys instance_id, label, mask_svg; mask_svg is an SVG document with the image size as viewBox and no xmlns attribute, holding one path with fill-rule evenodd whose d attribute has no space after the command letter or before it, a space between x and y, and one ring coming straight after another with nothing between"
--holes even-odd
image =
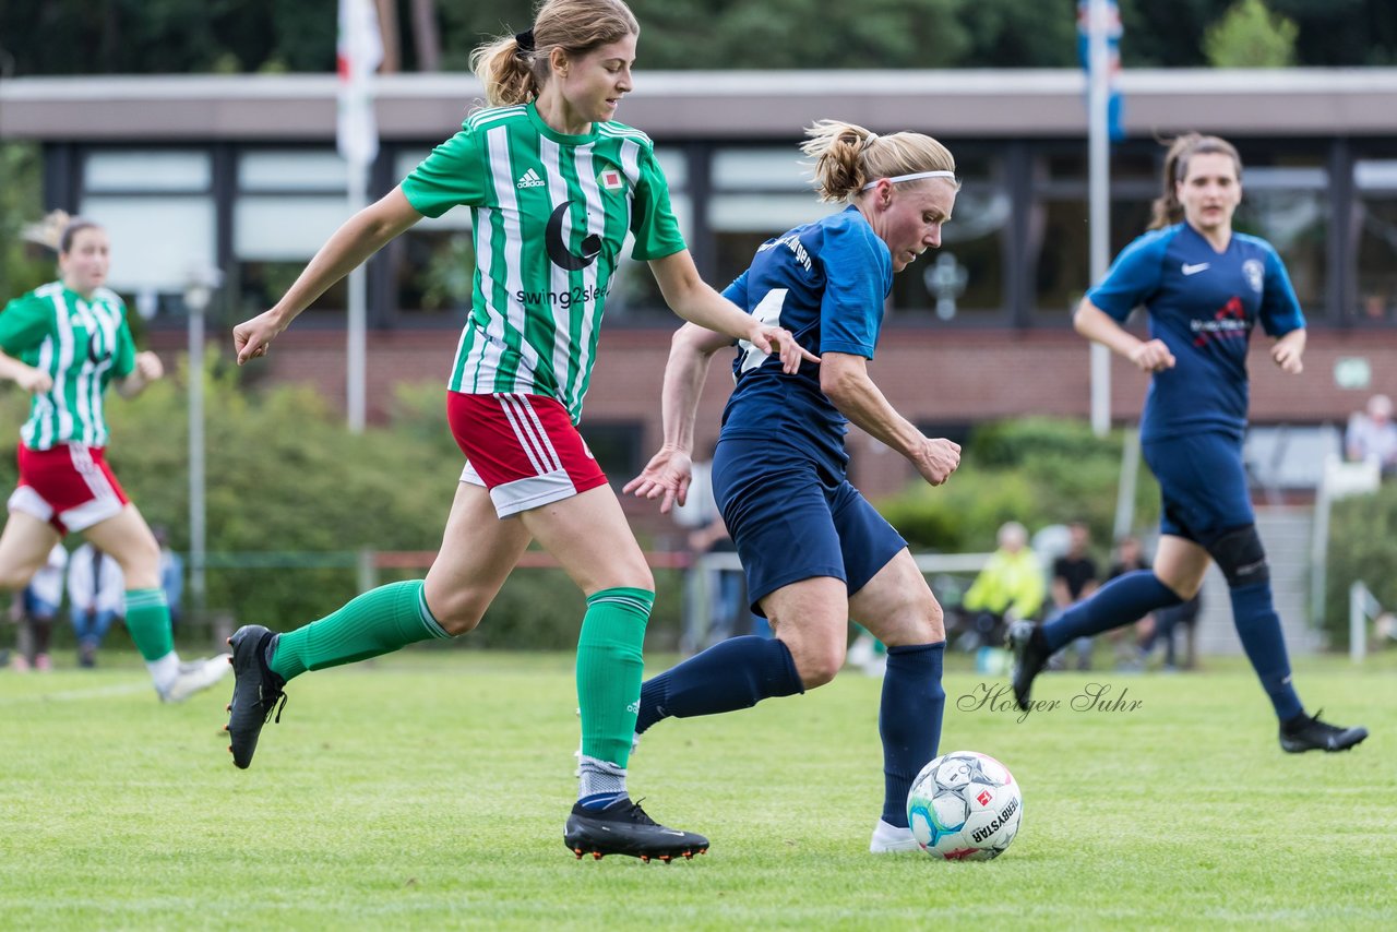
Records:
<instances>
[{"instance_id":1,"label":"upright green sock on planted front leg of foreground striped-shirt player","mask_svg":"<svg viewBox=\"0 0 1397 932\"><path fill-rule=\"evenodd\" d=\"M655 594L602 590L587 599L577 639L577 704L583 713L583 756L624 767L640 711L641 647Z\"/></svg>"}]
</instances>

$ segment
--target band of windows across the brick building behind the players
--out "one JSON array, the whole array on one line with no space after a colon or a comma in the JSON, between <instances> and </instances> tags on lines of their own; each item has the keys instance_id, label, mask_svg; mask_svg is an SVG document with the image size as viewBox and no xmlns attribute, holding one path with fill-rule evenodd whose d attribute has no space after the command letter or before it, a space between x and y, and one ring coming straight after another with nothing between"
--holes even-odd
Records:
<instances>
[{"instance_id":1,"label":"band of windows across the brick building behind the players","mask_svg":"<svg viewBox=\"0 0 1397 932\"><path fill-rule=\"evenodd\" d=\"M1080 141L947 140L963 180L939 250L894 279L888 321L909 327L1065 327L1090 286L1087 155ZM1241 140L1238 229L1268 239L1312 326L1397 323L1397 138ZM346 166L330 147L73 147L71 200L113 239L113 285L142 313L182 313L189 270L226 272L231 314L270 306L349 217ZM370 197L430 151L386 144ZM820 203L795 144L661 143L671 198L704 279L724 288L764 240L841 210ZM1111 253L1146 229L1164 148L1112 152ZM165 243L162 249L142 247ZM422 221L369 267L376 327L458 327L471 299L471 214ZM346 286L310 319L341 326ZM669 326L644 263L617 272L608 317Z\"/></svg>"}]
</instances>

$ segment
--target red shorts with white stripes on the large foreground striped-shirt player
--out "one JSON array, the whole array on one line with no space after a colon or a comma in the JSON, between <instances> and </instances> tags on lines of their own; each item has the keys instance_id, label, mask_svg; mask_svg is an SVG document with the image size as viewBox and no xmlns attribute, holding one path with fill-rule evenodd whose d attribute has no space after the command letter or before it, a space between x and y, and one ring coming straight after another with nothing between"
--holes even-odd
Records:
<instances>
[{"instance_id":1,"label":"red shorts with white stripes on the large foreground striped-shirt player","mask_svg":"<svg viewBox=\"0 0 1397 932\"><path fill-rule=\"evenodd\" d=\"M502 518L606 485L555 398L448 391L446 416L467 458L461 482L489 489Z\"/></svg>"}]
</instances>

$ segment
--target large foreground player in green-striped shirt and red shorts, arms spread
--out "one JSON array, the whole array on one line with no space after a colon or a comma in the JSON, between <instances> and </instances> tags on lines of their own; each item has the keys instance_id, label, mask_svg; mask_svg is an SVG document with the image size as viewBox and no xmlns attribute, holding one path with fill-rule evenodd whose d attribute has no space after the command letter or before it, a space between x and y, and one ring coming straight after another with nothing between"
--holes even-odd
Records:
<instances>
[{"instance_id":1,"label":"large foreground player in green-striped shirt and red shorts, arms spread","mask_svg":"<svg viewBox=\"0 0 1397 932\"><path fill-rule=\"evenodd\" d=\"M271 310L233 330L239 363L265 355L296 314L377 249L423 217L471 208L475 289L447 393L467 464L441 549L426 580L365 592L293 632L253 625L233 634L228 731L239 767L251 763L288 680L472 630L536 539L587 597L577 646L581 784L564 843L578 858L664 861L708 847L657 824L627 795L655 584L576 428L627 233L680 317L752 341L756 356L780 345L777 365L791 370L802 351L698 278L650 138L613 122L631 89L638 34L620 0L549 0L529 31L476 49L489 108L345 222Z\"/></svg>"}]
</instances>

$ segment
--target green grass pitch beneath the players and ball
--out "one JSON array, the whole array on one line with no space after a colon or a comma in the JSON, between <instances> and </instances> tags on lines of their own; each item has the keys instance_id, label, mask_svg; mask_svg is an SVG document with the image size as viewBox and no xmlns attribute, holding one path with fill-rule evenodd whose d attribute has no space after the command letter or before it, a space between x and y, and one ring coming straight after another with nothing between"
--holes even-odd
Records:
<instances>
[{"instance_id":1,"label":"green grass pitch beneath the players and ball","mask_svg":"<svg viewBox=\"0 0 1397 932\"><path fill-rule=\"evenodd\" d=\"M247 771L221 731L231 680L162 707L134 655L0 672L0 928L1397 928L1393 655L1296 664L1312 710L1372 729L1345 755L1281 753L1249 669L1207 667L1049 675L1037 697L1062 706L1028 721L975 707L995 680L953 668L942 750L993 755L1024 791L983 864L868 854L879 682L856 671L662 722L633 795L712 838L668 866L563 848L570 657L412 650L303 676ZM1071 708L1091 682L1125 703Z\"/></svg>"}]
</instances>

